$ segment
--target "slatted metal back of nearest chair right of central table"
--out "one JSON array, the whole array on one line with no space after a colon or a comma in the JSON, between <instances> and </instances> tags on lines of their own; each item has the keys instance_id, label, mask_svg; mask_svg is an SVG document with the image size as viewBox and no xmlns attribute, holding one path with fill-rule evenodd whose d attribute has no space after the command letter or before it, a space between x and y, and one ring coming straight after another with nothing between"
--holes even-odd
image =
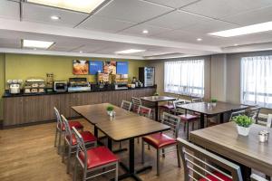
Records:
<instances>
[{"instance_id":1,"label":"slatted metal back of nearest chair right of central table","mask_svg":"<svg viewBox=\"0 0 272 181\"><path fill-rule=\"evenodd\" d=\"M180 117L172 115L167 112L163 112L161 123L170 126L170 135L173 138L179 137L180 130Z\"/></svg>"}]
</instances>

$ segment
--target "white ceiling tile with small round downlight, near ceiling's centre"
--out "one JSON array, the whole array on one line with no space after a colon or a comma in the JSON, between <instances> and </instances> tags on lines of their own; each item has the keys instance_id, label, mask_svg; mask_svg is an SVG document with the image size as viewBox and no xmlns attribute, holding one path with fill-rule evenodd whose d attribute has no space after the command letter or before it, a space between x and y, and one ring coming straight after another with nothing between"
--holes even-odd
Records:
<instances>
[{"instance_id":1,"label":"white ceiling tile with small round downlight, near ceiling's centre","mask_svg":"<svg viewBox=\"0 0 272 181\"><path fill-rule=\"evenodd\" d=\"M142 33L143 30L149 31L149 33ZM136 35L136 36L151 36L158 33L163 33L170 31L168 28L161 28L157 26L152 26L148 24L138 24L129 29L121 31L121 34Z\"/></svg>"}]
</instances>

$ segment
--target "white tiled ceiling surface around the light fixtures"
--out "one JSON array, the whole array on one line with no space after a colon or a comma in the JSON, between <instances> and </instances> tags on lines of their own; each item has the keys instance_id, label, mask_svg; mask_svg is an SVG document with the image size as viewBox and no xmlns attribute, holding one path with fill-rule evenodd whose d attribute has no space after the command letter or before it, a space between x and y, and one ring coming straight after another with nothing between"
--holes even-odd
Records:
<instances>
[{"instance_id":1,"label":"white tiled ceiling surface around the light fixtures","mask_svg":"<svg viewBox=\"0 0 272 181\"><path fill-rule=\"evenodd\" d=\"M53 21L52 15L61 19ZM271 31L231 38L208 35L268 21L271 0L110 0L93 14L1 0L0 52L152 59L269 50ZM21 48L22 39L54 45L46 51L26 50ZM146 51L115 53L126 49Z\"/></svg>"}]
</instances>

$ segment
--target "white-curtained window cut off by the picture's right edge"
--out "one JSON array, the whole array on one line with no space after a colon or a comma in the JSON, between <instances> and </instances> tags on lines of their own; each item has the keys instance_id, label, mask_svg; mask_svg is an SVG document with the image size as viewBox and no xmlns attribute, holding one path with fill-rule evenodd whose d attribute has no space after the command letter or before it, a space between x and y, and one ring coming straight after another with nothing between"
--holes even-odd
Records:
<instances>
[{"instance_id":1,"label":"white-curtained window cut off by the picture's right edge","mask_svg":"<svg viewBox=\"0 0 272 181\"><path fill-rule=\"evenodd\" d=\"M272 108L272 56L242 58L241 102Z\"/></svg>"}]
</instances>

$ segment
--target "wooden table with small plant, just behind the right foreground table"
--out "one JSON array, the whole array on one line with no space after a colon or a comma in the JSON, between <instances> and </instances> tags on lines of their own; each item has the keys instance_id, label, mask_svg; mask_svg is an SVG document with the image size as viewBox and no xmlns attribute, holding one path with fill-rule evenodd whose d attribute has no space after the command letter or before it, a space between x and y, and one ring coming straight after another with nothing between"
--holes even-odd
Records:
<instances>
[{"instance_id":1,"label":"wooden table with small plant, just behind the right foreground table","mask_svg":"<svg viewBox=\"0 0 272 181\"><path fill-rule=\"evenodd\" d=\"M183 104L178 106L183 110L190 110L200 113L200 129L204 129L205 115L213 116L220 115L220 123L224 122L224 113L245 110L248 108L246 105L232 104L228 102L217 102L216 106L209 106L208 102L195 102Z\"/></svg>"}]
</instances>

